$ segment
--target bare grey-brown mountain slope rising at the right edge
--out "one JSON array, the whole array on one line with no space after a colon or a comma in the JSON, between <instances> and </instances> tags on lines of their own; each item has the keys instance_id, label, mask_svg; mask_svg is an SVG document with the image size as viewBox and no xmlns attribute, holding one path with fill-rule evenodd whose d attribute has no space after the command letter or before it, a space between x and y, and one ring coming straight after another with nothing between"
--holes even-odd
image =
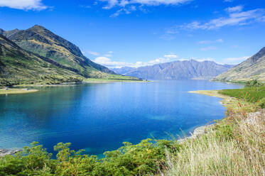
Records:
<instances>
[{"instance_id":1,"label":"bare grey-brown mountain slope rising at the right edge","mask_svg":"<svg viewBox=\"0 0 265 176\"><path fill-rule=\"evenodd\" d=\"M257 79L265 81L265 47L241 64L218 75L213 80L240 82Z\"/></svg>"}]
</instances>

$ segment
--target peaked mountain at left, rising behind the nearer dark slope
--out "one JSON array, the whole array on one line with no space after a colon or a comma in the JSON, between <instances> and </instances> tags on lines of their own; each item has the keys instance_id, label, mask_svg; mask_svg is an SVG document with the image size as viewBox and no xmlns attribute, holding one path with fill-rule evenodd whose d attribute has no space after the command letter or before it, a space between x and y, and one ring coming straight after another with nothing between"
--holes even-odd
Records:
<instances>
[{"instance_id":1,"label":"peaked mountain at left, rising behind the nearer dark slope","mask_svg":"<svg viewBox=\"0 0 265 176\"><path fill-rule=\"evenodd\" d=\"M1 30L0 33L24 50L48 57L60 63L60 65L78 70L83 77L98 78L106 77L108 74L115 74L107 67L92 62L82 55L76 45L52 33L43 26L36 25L27 30Z\"/></svg>"}]
</instances>

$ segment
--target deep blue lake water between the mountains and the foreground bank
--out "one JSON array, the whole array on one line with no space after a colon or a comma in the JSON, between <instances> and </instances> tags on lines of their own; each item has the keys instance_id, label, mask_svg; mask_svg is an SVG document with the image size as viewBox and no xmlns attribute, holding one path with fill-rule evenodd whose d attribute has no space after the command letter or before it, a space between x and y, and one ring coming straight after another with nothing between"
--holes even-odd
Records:
<instances>
[{"instance_id":1,"label":"deep blue lake water between the mountains and the foreground bank","mask_svg":"<svg viewBox=\"0 0 265 176\"><path fill-rule=\"evenodd\" d=\"M0 96L0 148L38 141L51 152L56 143L70 142L100 155L124 141L178 138L225 116L219 98L188 91L238 87L203 80L93 83Z\"/></svg>"}]
</instances>

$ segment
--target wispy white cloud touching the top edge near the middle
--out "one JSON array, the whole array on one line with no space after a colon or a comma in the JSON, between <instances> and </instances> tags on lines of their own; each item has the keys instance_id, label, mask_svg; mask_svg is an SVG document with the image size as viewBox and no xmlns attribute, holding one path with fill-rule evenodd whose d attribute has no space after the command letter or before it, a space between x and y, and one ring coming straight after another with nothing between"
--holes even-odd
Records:
<instances>
[{"instance_id":1,"label":"wispy white cloud touching the top edge near the middle","mask_svg":"<svg viewBox=\"0 0 265 176\"><path fill-rule=\"evenodd\" d=\"M129 14L132 11L140 10L146 11L144 6L160 6L160 5L178 5L184 4L192 0L97 0L104 3L102 9L118 8L118 10L111 15L117 17L121 13Z\"/></svg>"}]
</instances>

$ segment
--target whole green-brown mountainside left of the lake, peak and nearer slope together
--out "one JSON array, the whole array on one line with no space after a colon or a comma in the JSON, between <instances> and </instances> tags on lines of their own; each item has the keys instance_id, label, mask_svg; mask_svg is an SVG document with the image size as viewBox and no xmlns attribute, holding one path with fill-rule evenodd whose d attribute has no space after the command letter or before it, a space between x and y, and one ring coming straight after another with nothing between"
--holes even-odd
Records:
<instances>
[{"instance_id":1,"label":"whole green-brown mountainside left of the lake, peak and nearer slope together","mask_svg":"<svg viewBox=\"0 0 265 176\"><path fill-rule=\"evenodd\" d=\"M88 77L116 75L43 26L36 25L27 30L0 29L0 84L26 84L45 79L53 83L75 82Z\"/></svg>"}]
</instances>

